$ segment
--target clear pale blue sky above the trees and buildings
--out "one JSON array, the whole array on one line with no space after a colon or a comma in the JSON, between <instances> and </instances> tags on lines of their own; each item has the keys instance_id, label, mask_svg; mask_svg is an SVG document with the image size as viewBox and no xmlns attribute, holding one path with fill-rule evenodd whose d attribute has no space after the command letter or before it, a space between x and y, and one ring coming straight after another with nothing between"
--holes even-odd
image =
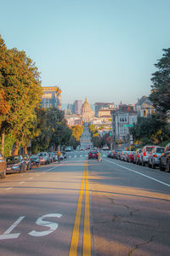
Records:
<instances>
[{"instance_id":1,"label":"clear pale blue sky above the trees and buildings","mask_svg":"<svg viewBox=\"0 0 170 256\"><path fill-rule=\"evenodd\" d=\"M0 0L0 33L62 103L137 102L170 47L170 0Z\"/></svg>"}]
</instances>

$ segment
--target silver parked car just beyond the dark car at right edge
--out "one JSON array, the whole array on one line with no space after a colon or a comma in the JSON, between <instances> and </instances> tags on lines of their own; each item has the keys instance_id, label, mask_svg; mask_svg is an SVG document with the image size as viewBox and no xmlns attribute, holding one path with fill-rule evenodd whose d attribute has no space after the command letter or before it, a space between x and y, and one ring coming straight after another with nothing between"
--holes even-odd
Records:
<instances>
[{"instance_id":1,"label":"silver parked car just beyond the dark car at right edge","mask_svg":"<svg viewBox=\"0 0 170 256\"><path fill-rule=\"evenodd\" d=\"M155 169L156 166L160 164L160 157L165 148L163 147L155 147L149 154L148 157L148 166Z\"/></svg>"}]
</instances>

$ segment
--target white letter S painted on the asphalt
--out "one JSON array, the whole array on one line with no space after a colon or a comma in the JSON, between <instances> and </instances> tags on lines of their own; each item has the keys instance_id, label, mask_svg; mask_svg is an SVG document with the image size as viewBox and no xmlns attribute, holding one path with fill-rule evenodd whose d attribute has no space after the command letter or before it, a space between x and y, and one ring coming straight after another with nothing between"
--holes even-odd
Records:
<instances>
[{"instance_id":1,"label":"white letter S painted on the asphalt","mask_svg":"<svg viewBox=\"0 0 170 256\"><path fill-rule=\"evenodd\" d=\"M58 224L55 222L51 222L51 221L46 221L43 220L44 218L60 218L62 216L62 214L59 213L50 213L50 214L46 214L46 215L42 215L42 217L37 218L36 224L42 227L48 227L49 230L46 231L36 231L36 230L32 230L30 233L28 233L28 235L30 236L47 236L48 234L54 232L54 230L57 230L58 228Z\"/></svg>"}]
</instances>

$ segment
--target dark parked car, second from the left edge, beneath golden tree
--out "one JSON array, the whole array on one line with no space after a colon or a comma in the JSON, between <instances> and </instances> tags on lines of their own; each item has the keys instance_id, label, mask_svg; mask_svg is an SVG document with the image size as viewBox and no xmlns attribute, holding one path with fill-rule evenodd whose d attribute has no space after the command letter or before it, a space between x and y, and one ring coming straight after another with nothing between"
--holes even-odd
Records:
<instances>
[{"instance_id":1,"label":"dark parked car, second from the left edge, beneath golden tree","mask_svg":"<svg viewBox=\"0 0 170 256\"><path fill-rule=\"evenodd\" d=\"M11 155L6 157L7 171L6 173L13 172L26 172L26 161L21 155Z\"/></svg>"}]
</instances>

